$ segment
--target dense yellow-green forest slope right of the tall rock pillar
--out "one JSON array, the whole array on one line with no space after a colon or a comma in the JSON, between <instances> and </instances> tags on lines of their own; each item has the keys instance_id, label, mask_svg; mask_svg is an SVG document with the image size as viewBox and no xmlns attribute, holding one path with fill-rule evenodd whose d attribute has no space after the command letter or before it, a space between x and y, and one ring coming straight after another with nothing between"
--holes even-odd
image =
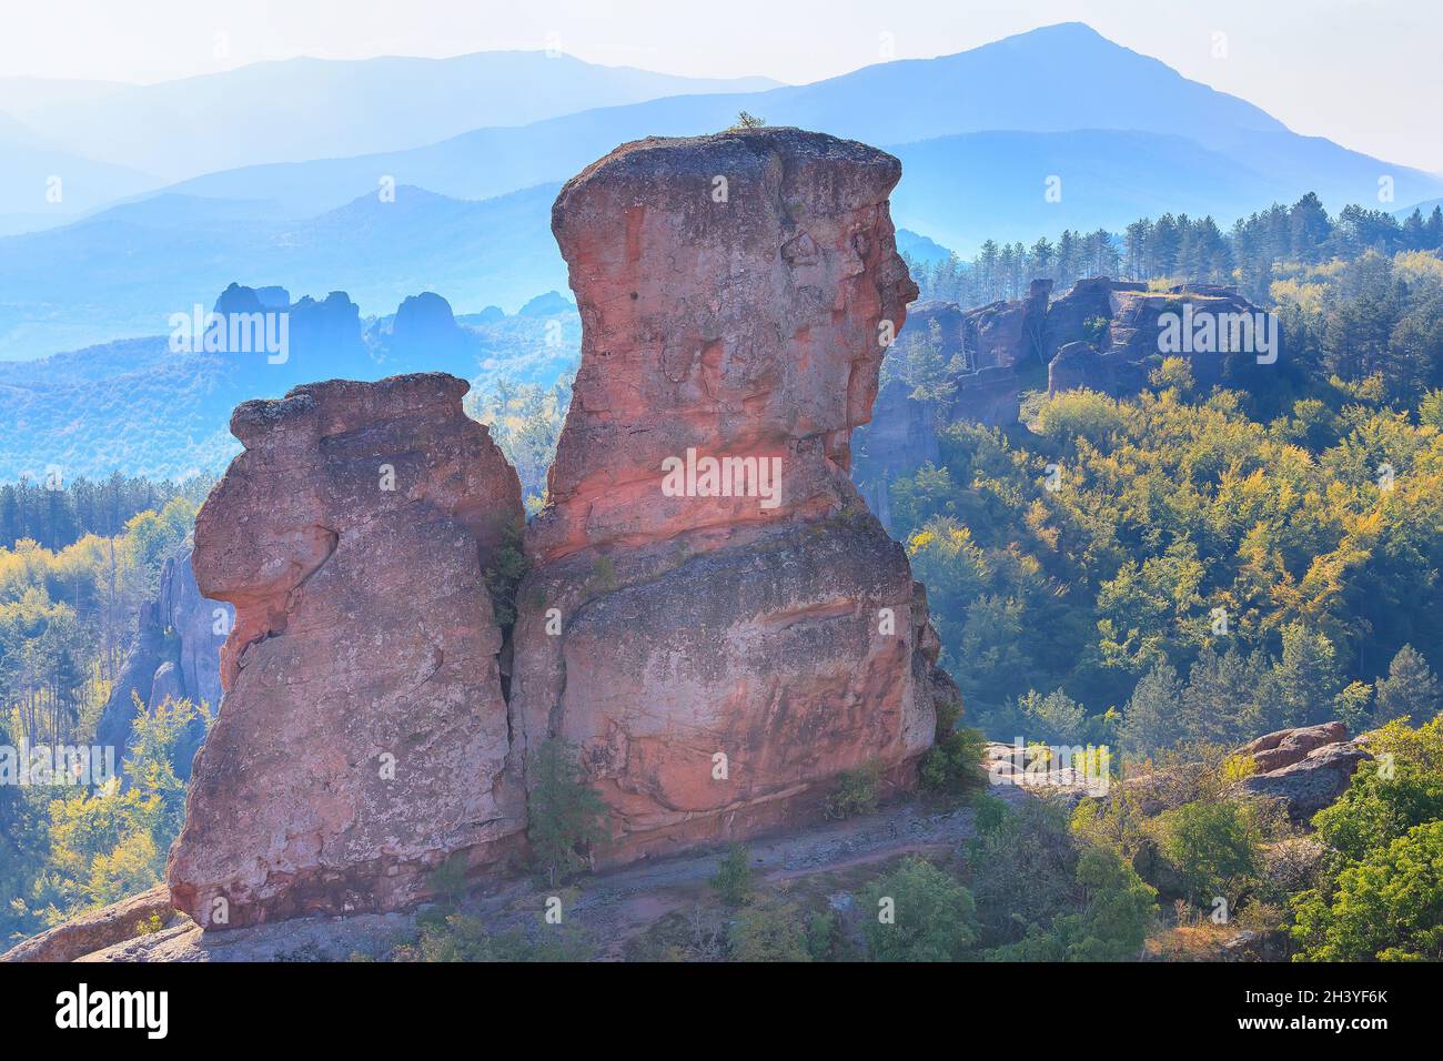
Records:
<instances>
[{"instance_id":1,"label":"dense yellow-green forest slope right of the tall rock pillar","mask_svg":"<svg viewBox=\"0 0 1443 1061\"><path fill-rule=\"evenodd\" d=\"M951 424L892 484L991 735L1149 751L1437 710L1443 261L1274 271L1289 357L1248 390L1166 361L1136 398L1038 397L1030 430Z\"/></svg>"}]
</instances>

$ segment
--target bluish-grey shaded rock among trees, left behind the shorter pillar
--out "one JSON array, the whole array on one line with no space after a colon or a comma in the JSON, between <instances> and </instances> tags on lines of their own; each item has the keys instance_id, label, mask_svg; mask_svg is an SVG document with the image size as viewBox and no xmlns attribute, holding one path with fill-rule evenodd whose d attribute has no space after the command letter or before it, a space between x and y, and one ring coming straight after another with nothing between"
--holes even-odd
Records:
<instances>
[{"instance_id":1,"label":"bluish-grey shaded rock among trees, left behind the shorter pillar","mask_svg":"<svg viewBox=\"0 0 1443 1061\"><path fill-rule=\"evenodd\" d=\"M215 716L221 707L219 648L232 615L228 603L201 596L189 550L166 560L160 592L140 606L136 644L95 725L95 742L115 749L117 768L124 765L130 746L136 697L152 709L166 700L190 700L205 704ZM180 780L190 777L190 761L203 739L205 723L196 719L175 752L173 765Z\"/></svg>"}]
</instances>

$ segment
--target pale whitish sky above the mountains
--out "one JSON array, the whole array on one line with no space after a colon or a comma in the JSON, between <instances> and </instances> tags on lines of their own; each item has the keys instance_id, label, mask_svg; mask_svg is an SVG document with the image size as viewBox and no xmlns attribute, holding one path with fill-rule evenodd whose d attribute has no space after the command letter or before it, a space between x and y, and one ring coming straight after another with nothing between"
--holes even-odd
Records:
<instances>
[{"instance_id":1,"label":"pale whitish sky above the mountains","mask_svg":"<svg viewBox=\"0 0 1443 1061\"><path fill-rule=\"evenodd\" d=\"M883 33L898 58L929 58L1055 22L1087 22L1299 133L1443 172L1440 0L0 0L0 75L150 82L550 42L592 62L804 82L877 62Z\"/></svg>"}]
</instances>

